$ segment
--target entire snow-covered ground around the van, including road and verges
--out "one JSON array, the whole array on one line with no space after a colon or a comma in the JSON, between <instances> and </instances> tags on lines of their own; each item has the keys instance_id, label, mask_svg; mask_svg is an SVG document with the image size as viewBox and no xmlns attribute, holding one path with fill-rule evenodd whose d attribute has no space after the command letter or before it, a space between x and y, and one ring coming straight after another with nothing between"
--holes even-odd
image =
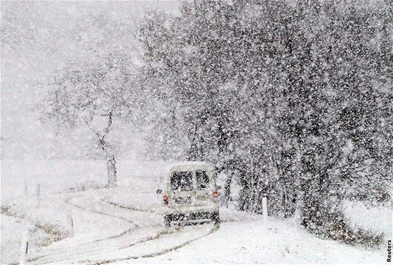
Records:
<instances>
[{"instance_id":1,"label":"entire snow-covered ground around the van, including road and verges","mask_svg":"<svg viewBox=\"0 0 393 265\"><path fill-rule=\"evenodd\" d=\"M265 221L233 205L220 209L218 230L212 224L164 229L155 193L164 165L120 161L119 188L102 189L104 161L2 161L1 264L18 263L26 229L32 264L385 264L385 247L323 240L296 218ZM41 186L38 208L36 184ZM67 238L68 212L73 238ZM352 205L347 214L357 225L391 238L391 210Z\"/></svg>"}]
</instances>

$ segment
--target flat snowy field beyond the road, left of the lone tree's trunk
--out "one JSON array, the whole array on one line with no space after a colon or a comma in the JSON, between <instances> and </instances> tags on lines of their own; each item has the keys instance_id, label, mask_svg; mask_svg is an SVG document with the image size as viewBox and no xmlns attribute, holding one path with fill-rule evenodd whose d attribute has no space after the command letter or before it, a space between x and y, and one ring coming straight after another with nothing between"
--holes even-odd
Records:
<instances>
[{"instance_id":1,"label":"flat snowy field beyond the road, left of the lone tree's trunk","mask_svg":"<svg viewBox=\"0 0 393 265\"><path fill-rule=\"evenodd\" d=\"M60 192L78 184L105 184L104 161L72 160L4 160L1 161L1 204L25 196L27 184L29 196L36 193Z\"/></svg>"}]
</instances>

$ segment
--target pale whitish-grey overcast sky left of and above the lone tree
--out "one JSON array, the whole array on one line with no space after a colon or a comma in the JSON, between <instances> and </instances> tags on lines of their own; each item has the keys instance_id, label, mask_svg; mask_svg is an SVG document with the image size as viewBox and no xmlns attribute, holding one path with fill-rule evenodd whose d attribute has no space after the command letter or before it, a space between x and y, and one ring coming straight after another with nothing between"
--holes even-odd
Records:
<instances>
[{"instance_id":1,"label":"pale whitish-grey overcast sky left of and above the lone tree","mask_svg":"<svg viewBox=\"0 0 393 265\"><path fill-rule=\"evenodd\" d=\"M2 1L1 158L67 157L84 153L94 141L84 128L54 137L37 111L48 90L42 83L66 60L81 56L79 41L69 33L84 18L105 13L137 29L148 9L176 13L178 6L178 1Z\"/></svg>"}]
</instances>

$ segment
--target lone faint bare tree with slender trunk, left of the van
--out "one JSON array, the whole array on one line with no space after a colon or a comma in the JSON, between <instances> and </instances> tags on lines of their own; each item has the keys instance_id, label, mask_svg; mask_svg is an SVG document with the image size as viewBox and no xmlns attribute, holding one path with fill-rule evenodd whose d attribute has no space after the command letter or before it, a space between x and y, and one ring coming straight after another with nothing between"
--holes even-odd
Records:
<instances>
[{"instance_id":1,"label":"lone faint bare tree with slender trunk, left of the van","mask_svg":"<svg viewBox=\"0 0 393 265\"><path fill-rule=\"evenodd\" d=\"M135 107L138 82L131 56L122 50L97 53L68 62L53 79L42 120L55 123L60 132L86 125L106 158L108 186L116 186L116 154L107 135L114 119L130 117Z\"/></svg>"}]
</instances>

